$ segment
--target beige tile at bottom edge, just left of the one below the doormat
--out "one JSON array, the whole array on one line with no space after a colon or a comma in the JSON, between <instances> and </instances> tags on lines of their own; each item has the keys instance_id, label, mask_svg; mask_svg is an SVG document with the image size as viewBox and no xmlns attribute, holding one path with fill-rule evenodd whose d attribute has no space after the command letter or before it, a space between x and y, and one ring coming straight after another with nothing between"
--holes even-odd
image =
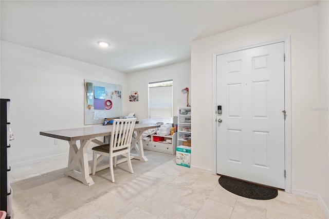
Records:
<instances>
[{"instance_id":1,"label":"beige tile at bottom edge, just left of the one below the doormat","mask_svg":"<svg viewBox=\"0 0 329 219\"><path fill-rule=\"evenodd\" d=\"M208 199L194 218L230 218L233 207Z\"/></svg>"}]
</instances>

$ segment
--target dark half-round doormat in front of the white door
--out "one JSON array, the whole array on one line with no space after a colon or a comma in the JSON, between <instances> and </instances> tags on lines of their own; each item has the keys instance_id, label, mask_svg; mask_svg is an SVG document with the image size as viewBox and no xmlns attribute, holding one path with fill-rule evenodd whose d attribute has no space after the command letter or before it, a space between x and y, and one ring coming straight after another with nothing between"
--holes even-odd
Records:
<instances>
[{"instance_id":1,"label":"dark half-round doormat in front of the white door","mask_svg":"<svg viewBox=\"0 0 329 219\"><path fill-rule=\"evenodd\" d=\"M278 196L278 190L251 184L238 179L221 176L220 185L229 192L246 198L267 200Z\"/></svg>"}]
</instances>

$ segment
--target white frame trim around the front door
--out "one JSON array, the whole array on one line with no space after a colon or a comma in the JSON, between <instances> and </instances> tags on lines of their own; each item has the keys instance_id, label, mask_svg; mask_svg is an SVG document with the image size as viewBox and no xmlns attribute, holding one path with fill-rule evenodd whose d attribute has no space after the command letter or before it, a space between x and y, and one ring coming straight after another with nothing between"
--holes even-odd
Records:
<instances>
[{"instance_id":1,"label":"white frame trim around the front door","mask_svg":"<svg viewBox=\"0 0 329 219\"><path fill-rule=\"evenodd\" d=\"M284 107L286 111L286 120L284 127L285 135L285 147L284 147L284 166L286 171L286 177L284 182L285 192L291 193L291 54L290 54L290 36L285 39L279 39L270 42L264 42L260 44L254 44L250 46L245 46L241 48L235 48L231 50L226 50L222 52L213 53L213 72L212 72L212 108L214 113L212 114L212 173L217 174L217 141L216 141L216 124L217 124L217 115L215 112L216 109L216 57L222 54L236 52L245 49L251 49L254 47L265 46L275 43L284 43L284 53L285 53L285 62L284 62ZM283 59L283 57L282 57ZM284 173L282 173L284 174Z\"/></svg>"}]
</instances>

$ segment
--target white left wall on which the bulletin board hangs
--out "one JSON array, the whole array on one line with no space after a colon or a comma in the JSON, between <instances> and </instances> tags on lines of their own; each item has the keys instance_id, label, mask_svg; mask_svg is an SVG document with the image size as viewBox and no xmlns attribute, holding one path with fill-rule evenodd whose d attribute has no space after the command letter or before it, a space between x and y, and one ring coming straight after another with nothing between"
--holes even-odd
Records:
<instances>
[{"instance_id":1,"label":"white left wall on which the bulletin board hangs","mask_svg":"<svg viewBox=\"0 0 329 219\"><path fill-rule=\"evenodd\" d=\"M11 163L68 154L68 143L40 131L84 126L84 79L122 85L127 107L127 75L55 54L1 42L1 98L11 99ZM125 101L126 100L126 101Z\"/></svg>"}]
</instances>

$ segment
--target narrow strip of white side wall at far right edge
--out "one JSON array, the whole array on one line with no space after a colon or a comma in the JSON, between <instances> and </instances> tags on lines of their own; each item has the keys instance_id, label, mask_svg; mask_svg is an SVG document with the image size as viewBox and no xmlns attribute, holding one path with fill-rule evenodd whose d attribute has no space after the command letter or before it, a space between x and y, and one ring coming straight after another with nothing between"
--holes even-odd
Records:
<instances>
[{"instance_id":1,"label":"narrow strip of white side wall at far right edge","mask_svg":"<svg viewBox=\"0 0 329 219\"><path fill-rule=\"evenodd\" d=\"M326 206L329 206L329 2L318 4L318 43L319 43L319 148L318 172L323 180L318 181L318 193ZM329 217L329 215L327 215Z\"/></svg>"}]
</instances>

